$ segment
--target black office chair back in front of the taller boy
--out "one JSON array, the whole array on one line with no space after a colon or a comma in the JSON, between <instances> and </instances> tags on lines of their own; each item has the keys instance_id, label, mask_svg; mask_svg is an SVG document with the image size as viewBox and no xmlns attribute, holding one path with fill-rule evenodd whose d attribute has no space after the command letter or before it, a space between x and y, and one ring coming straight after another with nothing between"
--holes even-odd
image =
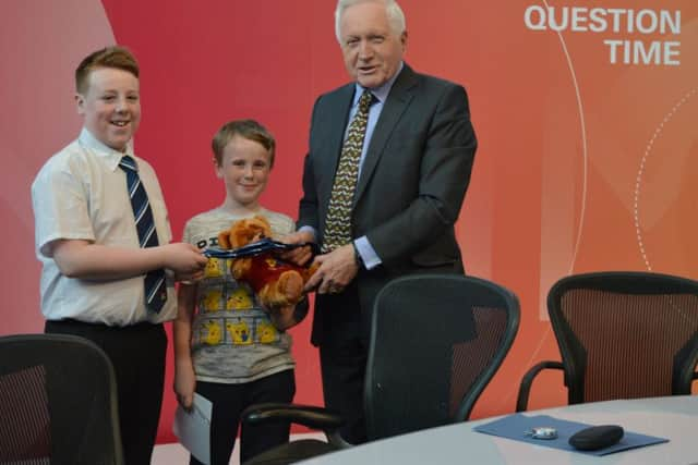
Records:
<instances>
[{"instance_id":1,"label":"black office chair back in front of the taller boy","mask_svg":"<svg viewBox=\"0 0 698 465\"><path fill-rule=\"evenodd\" d=\"M97 345L0 338L0 464L123 464L116 378Z\"/></svg>"}]
</instances>

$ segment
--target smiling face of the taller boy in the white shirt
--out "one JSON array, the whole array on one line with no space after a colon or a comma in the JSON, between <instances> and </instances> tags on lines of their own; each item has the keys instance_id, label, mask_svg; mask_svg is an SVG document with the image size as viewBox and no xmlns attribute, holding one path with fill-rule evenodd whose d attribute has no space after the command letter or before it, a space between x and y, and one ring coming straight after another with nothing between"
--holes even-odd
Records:
<instances>
[{"instance_id":1,"label":"smiling face of the taller boy in the white shirt","mask_svg":"<svg viewBox=\"0 0 698 465\"><path fill-rule=\"evenodd\" d=\"M139 78L128 71L98 68L87 79L87 90L75 96L77 112L92 135L123 151L141 122Z\"/></svg>"}]
</instances>

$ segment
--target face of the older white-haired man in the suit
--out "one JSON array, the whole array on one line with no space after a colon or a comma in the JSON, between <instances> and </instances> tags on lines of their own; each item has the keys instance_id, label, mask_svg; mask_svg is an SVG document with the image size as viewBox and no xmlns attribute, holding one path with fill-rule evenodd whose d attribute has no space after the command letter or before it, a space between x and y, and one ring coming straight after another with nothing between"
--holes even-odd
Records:
<instances>
[{"instance_id":1,"label":"face of the older white-haired man in the suit","mask_svg":"<svg viewBox=\"0 0 698 465\"><path fill-rule=\"evenodd\" d=\"M397 72L407 33L393 32L385 5L364 2L347 8L339 21L339 30L345 65L360 85L380 87Z\"/></svg>"}]
</instances>

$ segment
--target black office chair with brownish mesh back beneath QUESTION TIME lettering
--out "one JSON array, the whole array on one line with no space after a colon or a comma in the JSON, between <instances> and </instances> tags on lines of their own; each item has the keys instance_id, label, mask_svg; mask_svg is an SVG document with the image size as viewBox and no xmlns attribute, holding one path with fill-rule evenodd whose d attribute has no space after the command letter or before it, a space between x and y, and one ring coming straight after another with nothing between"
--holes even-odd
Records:
<instances>
[{"instance_id":1,"label":"black office chair with brownish mesh back beneath QUESTION TIME lettering","mask_svg":"<svg viewBox=\"0 0 698 465\"><path fill-rule=\"evenodd\" d=\"M651 272L577 274L547 295L562 362L544 360L521 380L525 411L544 369L564 371L568 403L690 394L698 360L698 282Z\"/></svg>"}]
</instances>

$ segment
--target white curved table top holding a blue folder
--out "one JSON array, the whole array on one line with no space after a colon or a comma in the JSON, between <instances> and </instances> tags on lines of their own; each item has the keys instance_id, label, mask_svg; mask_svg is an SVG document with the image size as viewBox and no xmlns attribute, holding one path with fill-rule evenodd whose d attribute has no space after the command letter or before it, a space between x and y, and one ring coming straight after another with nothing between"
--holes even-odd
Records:
<instances>
[{"instance_id":1,"label":"white curved table top holding a blue folder","mask_svg":"<svg viewBox=\"0 0 698 465\"><path fill-rule=\"evenodd\" d=\"M698 464L698 395L597 402L525 414L621 425L628 431L667 438L670 442L592 456L473 431L474 426L493 420L483 418L371 442L303 464Z\"/></svg>"}]
</instances>

